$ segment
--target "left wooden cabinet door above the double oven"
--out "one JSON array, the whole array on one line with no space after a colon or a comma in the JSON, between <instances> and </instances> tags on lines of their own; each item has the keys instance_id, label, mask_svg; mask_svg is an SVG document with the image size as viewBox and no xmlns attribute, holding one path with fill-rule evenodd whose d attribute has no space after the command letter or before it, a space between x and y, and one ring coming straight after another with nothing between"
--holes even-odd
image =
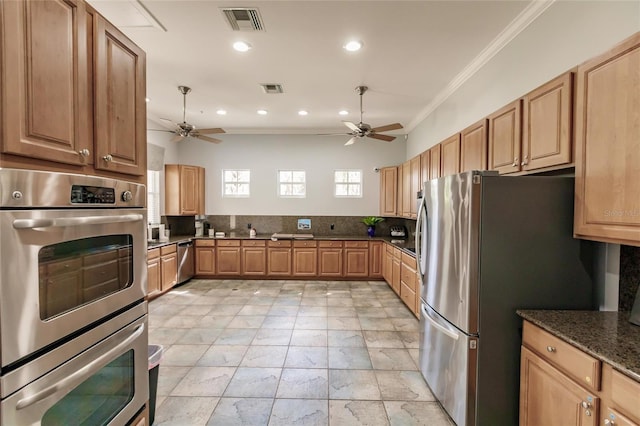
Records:
<instances>
[{"instance_id":1,"label":"left wooden cabinet door above the double oven","mask_svg":"<svg viewBox=\"0 0 640 426\"><path fill-rule=\"evenodd\" d=\"M90 163L85 3L3 1L0 9L2 152L73 166Z\"/></svg>"}]
</instances>

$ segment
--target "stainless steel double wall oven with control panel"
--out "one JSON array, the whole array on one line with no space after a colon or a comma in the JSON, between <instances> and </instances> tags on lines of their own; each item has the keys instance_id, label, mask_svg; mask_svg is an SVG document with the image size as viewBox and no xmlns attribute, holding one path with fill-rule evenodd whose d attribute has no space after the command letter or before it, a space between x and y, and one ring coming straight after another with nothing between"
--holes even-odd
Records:
<instances>
[{"instance_id":1,"label":"stainless steel double wall oven with control panel","mask_svg":"<svg viewBox=\"0 0 640 426\"><path fill-rule=\"evenodd\" d=\"M148 400L144 185L0 169L0 419L125 424Z\"/></svg>"}]
</instances>

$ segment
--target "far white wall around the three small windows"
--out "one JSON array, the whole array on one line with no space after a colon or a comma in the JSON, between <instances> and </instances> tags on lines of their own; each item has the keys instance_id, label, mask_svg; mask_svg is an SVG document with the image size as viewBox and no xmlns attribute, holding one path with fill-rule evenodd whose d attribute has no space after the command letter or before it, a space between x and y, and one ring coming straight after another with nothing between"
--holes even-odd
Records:
<instances>
[{"instance_id":1,"label":"far white wall around the three small windows","mask_svg":"<svg viewBox=\"0 0 640 426\"><path fill-rule=\"evenodd\" d=\"M151 126L151 125L150 125ZM388 143L364 139L344 146L345 136L233 135L220 136L212 144L198 139L175 143L149 132L149 142L162 144L165 163L202 166L206 169L206 214L209 215L377 215L380 175L377 167L400 164L406 146L399 137ZM222 198L222 169L251 170L250 198ZM333 171L359 169L363 172L363 197L333 196ZM305 170L307 197L278 198L278 170Z\"/></svg>"}]
</instances>

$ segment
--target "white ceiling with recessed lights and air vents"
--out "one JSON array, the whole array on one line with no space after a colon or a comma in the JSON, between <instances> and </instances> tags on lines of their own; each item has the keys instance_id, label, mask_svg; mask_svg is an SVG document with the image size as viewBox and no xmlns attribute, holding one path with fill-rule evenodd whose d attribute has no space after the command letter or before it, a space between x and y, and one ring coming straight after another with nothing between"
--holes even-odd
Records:
<instances>
[{"instance_id":1,"label":"white ceiling with recessed lights and air vents","mask_svg":"<svg viewBox=\"0 0 640 426\"><path fill-rule=\"evenodd\" d=\"M397 133L408 132L530 6L529 0L89 2L146 51L152 121L182 121L177 86L186 85L187 122L197 127L300 134L346 133L342 120L360 121L358 85L369 87L365 123L400 122L405 129ZM221 7L257 8L265 31L232 31ZM342 48L352 38L364 42L361 51ZM253 48L236 52L237 40ZM265 94L260 83L282 84L284 93ZM227 115L217 115L220 108ZM261 108L268 115L256 114ZM309 115L299 116L299 109ZM339 116L341 109L350 114Z\"/></svg>"}]
</instances>

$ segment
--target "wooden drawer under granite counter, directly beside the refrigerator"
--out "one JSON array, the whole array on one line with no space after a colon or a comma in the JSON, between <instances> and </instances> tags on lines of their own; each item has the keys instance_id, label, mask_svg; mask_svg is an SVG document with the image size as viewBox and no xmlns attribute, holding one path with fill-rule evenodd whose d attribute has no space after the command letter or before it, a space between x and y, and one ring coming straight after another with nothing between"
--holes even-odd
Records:
<instances>
[{"instance_id":1,"label":"wooden drawer under granite counter, directly beside the refrigerator","mask_svg":"<svg viewBox=\"0 0 640 426\"><path fill-rule=\"evenodd\" d=\"M528 321L523 325L522 341L542 358L564 370L580 385L590 390L600 390L602 365L599 360Z\"/></svg>"}]
</instances>

